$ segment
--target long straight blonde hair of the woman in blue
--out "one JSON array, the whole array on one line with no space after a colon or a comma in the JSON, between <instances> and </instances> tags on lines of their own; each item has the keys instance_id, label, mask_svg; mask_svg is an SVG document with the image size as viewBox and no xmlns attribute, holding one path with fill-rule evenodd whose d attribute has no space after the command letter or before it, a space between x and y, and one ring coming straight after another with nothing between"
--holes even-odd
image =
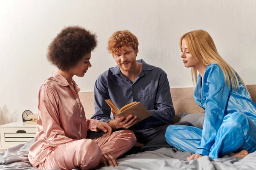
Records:
<instances>
[{"instance_id":1,"label":"long straight blonde hair of the woman in blue","mask_svg":"<svg viewBox=\"0 0 256 170\"><path fill-rule=\"evenodd\" d=\"M235 89L239 88L239 79L244 84L241 77L234 71L234 69L218 54L217 48L212 40L210 34L204 30L194 30L184 34L180 38L180 49L182 40L186 40L188 45L189 53L195 57L198 62L203 63L204 65L217 64L221 67L224 77L225 83L229 85L229 87L233 87ZM197 70L195 68L191 68L192 80L195 84L197 82ZM231 83L230 83L231 81ZM244 84L245 86L245 84ZM246 86L245 86L246 88Z\"/></svg>"}]
</instances>

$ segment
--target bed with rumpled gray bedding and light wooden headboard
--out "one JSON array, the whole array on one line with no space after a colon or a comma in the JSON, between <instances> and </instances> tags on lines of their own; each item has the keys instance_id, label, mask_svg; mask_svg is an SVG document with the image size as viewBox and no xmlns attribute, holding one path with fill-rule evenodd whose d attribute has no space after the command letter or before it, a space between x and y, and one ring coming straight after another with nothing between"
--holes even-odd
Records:
<instances>
[{"instance_id":1,"label":"bed with rumpled gray bedding and light wooden headboard","mask_svg":"<svg viewBox=\"0 0 256 170\"><path fill-rule=\"evenodd\" d=\"M247 85L252 99L256 102L256 85ZM179 113L202 113L193 99L193 88L172 88L172 100L176 111L175 120L179 120ZM80 92L80 99L84 105L87 118L93 113L93 92ZM186 103L186 107L183 107ZM31 139L25 144L19 144L0 153L0 169L5 170L38 170L28 161L30 146L35 142ZM256 170L256 152L250 153L243 159L224 156L220 159L210 159L202 156L197 160L186 161L190 152L176 152L175 148L161 148L125 156L118 159L118 167L100 167L99 170Z\"/></svg>"}]
</instances>

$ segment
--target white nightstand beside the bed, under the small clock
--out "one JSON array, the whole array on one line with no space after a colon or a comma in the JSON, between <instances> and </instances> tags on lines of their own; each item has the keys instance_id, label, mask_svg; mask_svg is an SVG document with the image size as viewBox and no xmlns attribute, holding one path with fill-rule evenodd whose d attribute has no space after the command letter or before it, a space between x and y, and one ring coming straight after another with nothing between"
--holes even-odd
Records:
<instances>
[{"instance_id":1,"label":"white nightstand beside the bed, under the small clock","mask_svg":"<svg viewBox=\"0 0 256 170\"><path fill-rule=\"evenodd\" d=\"M23 144L34 138L36 125L13 122L0 126L0 150Z\"/></svg>"}]
</instances>

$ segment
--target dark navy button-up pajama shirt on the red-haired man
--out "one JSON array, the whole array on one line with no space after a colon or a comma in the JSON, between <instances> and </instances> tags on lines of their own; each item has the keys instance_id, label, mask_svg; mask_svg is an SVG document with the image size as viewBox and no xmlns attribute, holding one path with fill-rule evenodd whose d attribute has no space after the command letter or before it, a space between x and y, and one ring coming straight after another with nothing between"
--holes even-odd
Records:
<instances>
[{"instance_id":1,"label":"dark navy button-up pajama shirt on the red-haired man","mask_svg":"<svg viewBox=\"0 0 256 170\"><path fill-rule=\"evenodd\" d=\"M137 62L143 66L134 82L122 74L118 65L99 76L94 87L95 113L91 119L111 121L111 108L105 102L106 99L111 99L119 109L131 102L141 102L152 114L130 127L130 130L150 129L172 122L175 112L167 74L143 59Z\"/></svg>"}]
</instances>

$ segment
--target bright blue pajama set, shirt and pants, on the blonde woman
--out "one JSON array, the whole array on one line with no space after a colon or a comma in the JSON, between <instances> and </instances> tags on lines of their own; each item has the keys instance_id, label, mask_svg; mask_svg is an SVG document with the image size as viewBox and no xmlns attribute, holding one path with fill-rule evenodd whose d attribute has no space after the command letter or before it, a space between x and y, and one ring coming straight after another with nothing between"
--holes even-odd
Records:
<instances>
[{"instance_id":1,"label":"bright blue pajama set, shirt and pants, on the blonde woman","mask_svg":"<svg viewBox=\"0 0 256 170\"><path fill-rule=\"evenodd\" d=\"M194 98L205 110L203 129L170 125L166 141L181 151L207 155L212 159L231 152L256 151L256 104L239 80L239 89L229 88L216 64L198 76Z\"/></svg>"}]
</instances>

